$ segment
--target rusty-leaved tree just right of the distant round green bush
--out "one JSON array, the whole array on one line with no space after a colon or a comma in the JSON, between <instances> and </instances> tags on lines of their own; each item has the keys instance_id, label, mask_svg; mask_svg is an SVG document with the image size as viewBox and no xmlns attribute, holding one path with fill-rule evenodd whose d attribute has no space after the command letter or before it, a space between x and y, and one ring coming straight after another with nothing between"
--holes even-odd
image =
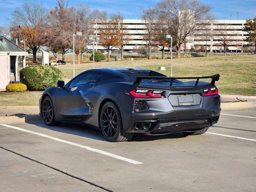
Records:
<instances>
[{"instance_id":1,"label":"rusty-leaved tree just right of the distant round green bush","mask_svg":"<svg viewBox=\"0 0 256 192\"><path fill-rule=\"evenodd\" d=\"M118 44L117 24L114 17L113 15L108 19L107 12L102 12L98 20L100 45L108 51L108 62L110 62L110 50Z\"/></svg>"}]
</instances>

